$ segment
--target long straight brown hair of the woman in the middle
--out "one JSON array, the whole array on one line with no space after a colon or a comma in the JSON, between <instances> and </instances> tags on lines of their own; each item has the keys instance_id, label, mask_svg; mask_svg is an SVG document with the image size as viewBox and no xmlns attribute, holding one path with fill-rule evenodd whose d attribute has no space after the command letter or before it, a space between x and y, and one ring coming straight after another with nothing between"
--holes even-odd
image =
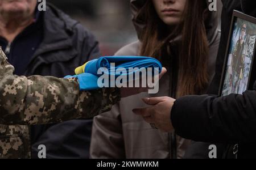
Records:
<instances>
[{"instance_id":1,"label":"long straight brown hair of the woman in the middle","mask_svg":"<svg viewBox=\"0 0 256 170\"><path fill-rule=\"evenodd\" d=\"M179 80L176 97L200 94L208 84L207 63L209 44L204 24L207 2L187 0L182 22L170 30L157 15L151 0L139 11L146 17L146 27L139 37L142 41L141 56L151 56L161 60L162 55L171 55L170 41L181 35L179 48Z\"/></svg>"}]
</instances>

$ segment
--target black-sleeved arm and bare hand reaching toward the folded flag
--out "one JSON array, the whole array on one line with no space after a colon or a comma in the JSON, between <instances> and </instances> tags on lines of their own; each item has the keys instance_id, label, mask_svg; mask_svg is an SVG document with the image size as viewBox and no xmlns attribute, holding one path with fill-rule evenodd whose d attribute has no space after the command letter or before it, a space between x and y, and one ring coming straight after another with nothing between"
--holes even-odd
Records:
<instances>
[{"instance_id":1,"label":"black-sleeved arm and bare hand reaching toward the folded flag","mask_svg":"<svg viewBox=\"0 0 256 170\"><path fill-rule=\"evenodd\" d=\"M185 96L143 99L150 108L134 109L162 131L175 129L186 139L239 143L238 158L256 158L256 91L225 97ZM170 119L171 117L171 119Z\"/></svg>"}]
</instances>

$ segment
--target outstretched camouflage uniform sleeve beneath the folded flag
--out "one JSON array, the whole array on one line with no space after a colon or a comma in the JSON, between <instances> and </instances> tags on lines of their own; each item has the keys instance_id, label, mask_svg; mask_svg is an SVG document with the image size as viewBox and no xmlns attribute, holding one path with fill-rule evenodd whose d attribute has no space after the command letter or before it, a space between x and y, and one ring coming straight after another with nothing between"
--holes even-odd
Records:
<instances>
[{"instance_id":1,"label":"outstretched camouflage uniform sleeve beneath the folded flag","mask_svg":"<svg viewBox=\"0 0 256 170\"><path fill-rule=\"evenodd\" d=\"M76 79L16 76L0 48L0 124L36 125L90 118L109 111L119 90L79 91Z\"/></svg>"}]
</instances>

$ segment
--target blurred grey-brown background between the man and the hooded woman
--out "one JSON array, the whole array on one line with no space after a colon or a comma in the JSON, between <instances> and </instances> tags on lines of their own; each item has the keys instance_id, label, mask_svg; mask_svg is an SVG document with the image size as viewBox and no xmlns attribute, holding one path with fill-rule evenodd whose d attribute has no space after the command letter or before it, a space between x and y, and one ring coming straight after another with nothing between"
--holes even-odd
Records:
<instances>
[{"instance_id":1,"label":"blurred grey-brown background between the man and the hooded woman","mask_svg":"<svg viewBox=\"0 0 256 170\"><path fill-rule=\"evenodd\" d=\"M111 56L137 40L131 22L130 0L51 0L56 7L88 28L100 42L101 54ZM221 14L221 0L217 0Z\"/></svg>"}]
</instances>

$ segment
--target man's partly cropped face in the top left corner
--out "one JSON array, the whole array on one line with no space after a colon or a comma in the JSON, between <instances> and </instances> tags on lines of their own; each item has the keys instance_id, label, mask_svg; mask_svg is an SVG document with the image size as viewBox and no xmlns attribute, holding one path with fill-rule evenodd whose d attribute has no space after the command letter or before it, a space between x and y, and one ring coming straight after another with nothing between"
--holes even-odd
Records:
<instances>
[{"instance_id":1,"label":"man's partly cropped face in the top left corner","mask_svg":"<svg viewBox=\"0 0 256 170\"><path fill-rule=\"evenodd\" d=\"M0 0L0 15L30 15L36 3L36 0Z\"/></svg>"}]
</instances>

